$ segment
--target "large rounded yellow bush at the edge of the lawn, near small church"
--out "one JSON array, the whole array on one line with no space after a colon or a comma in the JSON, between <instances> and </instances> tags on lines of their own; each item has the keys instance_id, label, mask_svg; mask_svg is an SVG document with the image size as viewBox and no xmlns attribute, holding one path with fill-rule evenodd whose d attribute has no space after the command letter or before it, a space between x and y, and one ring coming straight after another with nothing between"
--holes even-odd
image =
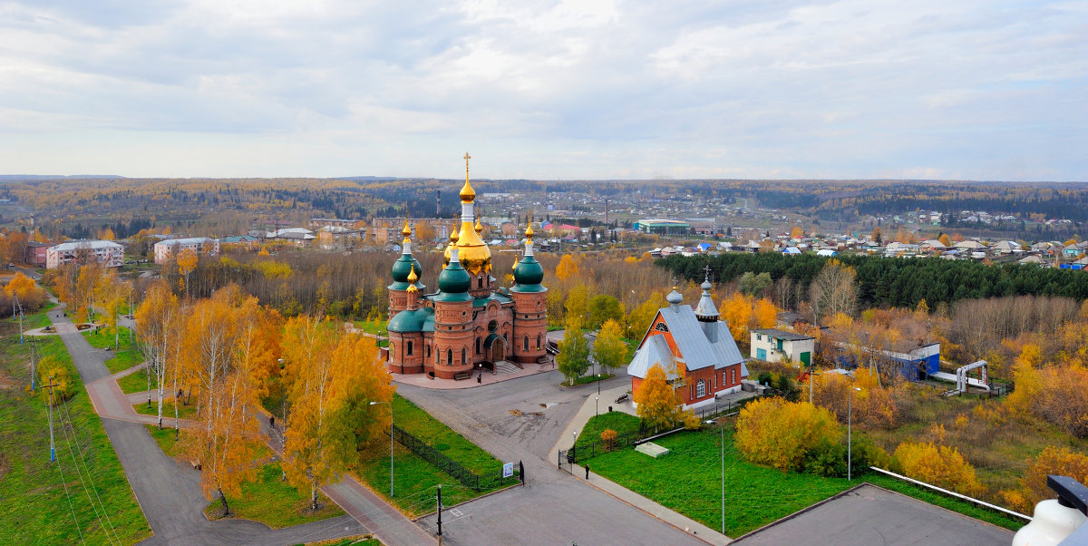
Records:
<instances>
[{"instance_id":1,"label":"large rounded yellow bush at the edge of the lawn, near small church","mask_svg":"<svg viewBox=\"0 0 1088 546\"><path fill-rule=\"evenodd\" d=\"M841 438L842 426L828 410L776 396L741 410L734 440L747 460L784 472L801 470L809 450Z\"/></svg>"}]
</instances>

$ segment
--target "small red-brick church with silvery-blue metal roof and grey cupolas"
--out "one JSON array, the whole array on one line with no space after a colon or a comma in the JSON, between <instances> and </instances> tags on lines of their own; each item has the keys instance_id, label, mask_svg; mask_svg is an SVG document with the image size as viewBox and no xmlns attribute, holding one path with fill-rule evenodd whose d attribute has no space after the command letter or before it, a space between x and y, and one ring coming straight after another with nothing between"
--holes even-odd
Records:
<instances>
[{"instance_id":1,"label":"small red-brick church with silvery-blue metal roof and grey cupolas","mask_svg":"<svg viewBox=\"0 0 1088 546\"><path fill-rule=\"evenodd\" d=\"M665 371L684 409L713 404L716 396L741 389L747 379L744 358L729 325L719 320L709 278L702 288L695 309L681 305L683 296L676 288L665 297L669 307L657 310L627 367L632 393L654 365Z\"/></svg>"}]
</instances>

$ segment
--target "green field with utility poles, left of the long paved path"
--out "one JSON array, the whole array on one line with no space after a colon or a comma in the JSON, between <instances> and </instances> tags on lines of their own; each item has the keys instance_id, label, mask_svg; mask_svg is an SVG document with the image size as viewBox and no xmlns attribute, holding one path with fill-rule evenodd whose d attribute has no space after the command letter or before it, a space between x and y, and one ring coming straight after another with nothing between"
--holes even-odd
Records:
<instances>
[{"instance_id":1,"label":"green field with utility poles, left of the long paved path","mask_svg":"<svg viewBox=\"0 0 1088 546\"><path fill-rule=\"evenodd\" d=\"M26 317L26 327L46 324L45 312ZM134 544L148 537L151 530L63 343L39 339L39 355L63 362L76 383L75 396L54 411L58 424L71 415L74 433L55 427L58 461L51 463L46 405L24 390L29 344L18 345L17 322L0 321L0 544Z\"/></svg>"}]
</instances>

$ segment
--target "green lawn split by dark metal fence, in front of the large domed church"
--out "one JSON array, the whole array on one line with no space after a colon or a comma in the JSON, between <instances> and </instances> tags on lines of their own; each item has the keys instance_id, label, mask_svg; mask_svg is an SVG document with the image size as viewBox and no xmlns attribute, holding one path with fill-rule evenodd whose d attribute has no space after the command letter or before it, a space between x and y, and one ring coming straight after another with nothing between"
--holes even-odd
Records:
<instances>
[{"instance_id":1,"label":"green lawn split by dark metal fence, in front of the large domed church","mask_svg":"<svg viewBox=\"0 0 1088 546\"><path fill-rule=\"evenodd\" d=\"M397 426L423 439L465 468L482 474L494 473L503 463L487 451L453 431L411 401L395 396L393 417ZM449 474L412 454L399 443L394 444L394 489L390 498L390 444L374 442L360 452L361 462L355 474L375 493L409 516L434 511L437 485L442 484L442 501L454 506L490 492L478 492L461 485Z\"/></svg>"}]
</instances>

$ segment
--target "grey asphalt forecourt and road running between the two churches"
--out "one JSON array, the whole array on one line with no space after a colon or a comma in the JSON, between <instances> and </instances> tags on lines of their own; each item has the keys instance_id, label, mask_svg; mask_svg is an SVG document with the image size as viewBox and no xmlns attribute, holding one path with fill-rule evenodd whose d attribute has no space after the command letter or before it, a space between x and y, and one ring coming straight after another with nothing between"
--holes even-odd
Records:
<instances>
[{"instance_id":1,"label":"grey asphalt forecourt and road running between the two churches","mask_svg":"<svg viewBox=\"0 0 1088 546\"><path fill-rule=\"evenodd\" d=\"M561 381L555 371L466 389L397 385L401 396L498 459L526 466L524 486L446 511L443 543L703 544L556 468L552 447L585 398L596 394L593 385L561 388ZM629 381L620 372L603 388ZM419 523L433 533L435 520Z\"/></svg>"}]
</instances>

